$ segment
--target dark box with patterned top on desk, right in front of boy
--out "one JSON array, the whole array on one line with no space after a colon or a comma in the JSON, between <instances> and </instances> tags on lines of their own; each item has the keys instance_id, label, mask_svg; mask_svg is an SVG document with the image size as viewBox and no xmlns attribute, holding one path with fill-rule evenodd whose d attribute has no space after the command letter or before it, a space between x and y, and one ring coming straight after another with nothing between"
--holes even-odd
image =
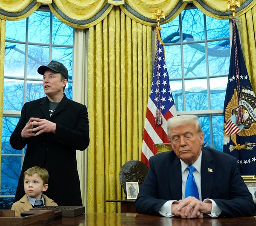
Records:
<instances>
[{"instance_id":1,"label":"dark box with patterned top on desk, right in front of boy","mask_svg":"<svg viewBox=\"0 0 256 226\"><path fill-rule=\"evenodd\" d=\"M40 207L35 207L33 209L61 210L62 217L76 217L78 215L84 214L85 212L84 206L40 206Z\"/></svg>"}]
</instances>

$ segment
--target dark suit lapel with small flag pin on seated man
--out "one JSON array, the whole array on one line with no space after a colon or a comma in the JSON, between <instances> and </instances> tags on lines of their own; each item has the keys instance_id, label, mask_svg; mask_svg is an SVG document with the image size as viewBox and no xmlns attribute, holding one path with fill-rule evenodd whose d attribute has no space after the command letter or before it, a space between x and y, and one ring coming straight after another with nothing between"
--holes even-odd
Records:
<instances>
[{"instance_id":1,"label":"dark suit lapel with small flag pin on seated man","mask_svg":"<svg viewBox=\"0 0 256 226\"><path fill-rule=\"evenodd\" d=\"M215 166L212 165L212 157L209 150L202 148L201 162L201 194L202 200L211 197L212 183L215 174Z\"/></svg>"}]
</instances>

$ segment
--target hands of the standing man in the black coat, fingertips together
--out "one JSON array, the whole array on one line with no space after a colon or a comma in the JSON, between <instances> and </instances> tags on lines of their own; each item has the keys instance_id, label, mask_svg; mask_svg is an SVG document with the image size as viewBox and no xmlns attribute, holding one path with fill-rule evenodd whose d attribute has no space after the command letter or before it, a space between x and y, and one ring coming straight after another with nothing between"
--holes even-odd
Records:
<instances>
[{"instance_id":1,"label":"hands of the standing man in the black coat, fingertips together","mask_svg":"<svg viewBox=\"0 0 256 226\"><path fill-rule=\"evenodd\" d=\"M55 130L56 123L41 118L30 118L26 123L26 126L21 131L21 137L29 138L38 136L42 133L55 133Z\"/></svg>"}]
</instances>

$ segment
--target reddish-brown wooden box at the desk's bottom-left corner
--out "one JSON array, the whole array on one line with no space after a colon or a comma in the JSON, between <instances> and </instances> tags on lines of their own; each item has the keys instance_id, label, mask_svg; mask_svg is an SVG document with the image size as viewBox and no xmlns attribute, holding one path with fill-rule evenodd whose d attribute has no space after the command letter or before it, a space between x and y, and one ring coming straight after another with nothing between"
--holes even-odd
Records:
<instances>
[{"instance_id":1,"label":"reddish-brown wooden box at the desk's bottom-left corner","mask_svg":"<svg viewBox=\"0 0 256 226\"><path fill-rule=\"evenodd\" d=\"M14 210L0 210L0 225L4 226L44 226L54 222L54 212L41 210L27 217L15 217Z\"/></svg>"}]
</instances>

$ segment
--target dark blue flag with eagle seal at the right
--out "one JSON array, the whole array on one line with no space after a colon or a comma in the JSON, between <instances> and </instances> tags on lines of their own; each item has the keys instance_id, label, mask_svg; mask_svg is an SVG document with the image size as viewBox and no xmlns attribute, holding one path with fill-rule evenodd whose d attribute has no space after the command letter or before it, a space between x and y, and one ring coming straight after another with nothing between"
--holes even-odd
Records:
<instances>
[{"instance_id":1,"label":"dark blue flag with eagle seal at the right","mask_svg":"<svg viewBox=\"0 0 256 226\"><path fill-rule=\"evenodd\" d=\"M241 175L256 175L256 97L244 63L235 17L223 143L223 151L237 158Z\"/></svg>"}]
</instances>

